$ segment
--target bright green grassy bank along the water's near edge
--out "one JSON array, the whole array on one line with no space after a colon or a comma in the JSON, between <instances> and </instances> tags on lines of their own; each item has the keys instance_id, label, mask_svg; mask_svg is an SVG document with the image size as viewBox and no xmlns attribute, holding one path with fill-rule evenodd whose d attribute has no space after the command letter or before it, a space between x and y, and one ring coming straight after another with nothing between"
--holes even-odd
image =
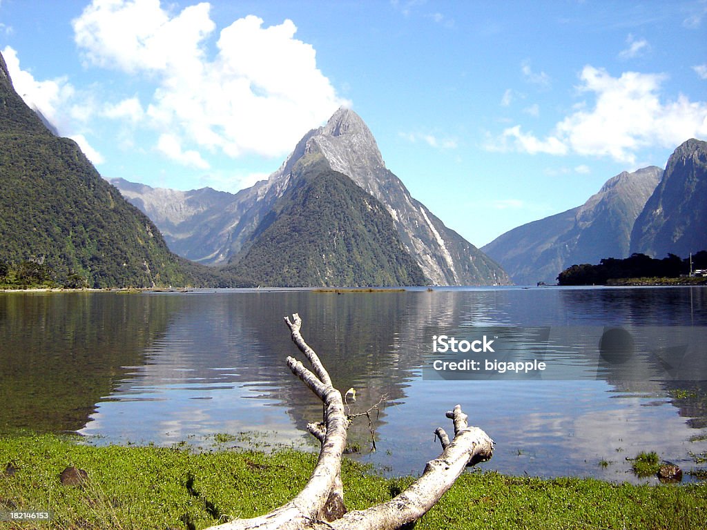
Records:
<instances>
[{"instance_id":1,"label":"bright green grassy bank along the water's near edge","mask_svg":"<svg viewBox=\"0 0 707 530\"><path fill-rule=\"evenodd\" d=\"M50 435L6 437L0 440L0 512L48 509L53 519L0 526L201 529L221 517L252 517L286 502L308 481L315 459L293 450L195 453L185 447L93 447ZM67 466L88 477L62 485L59 475ZM348 459L343 479L349 510L390 499L413 480L382 478ZM697 529L705 521L706 484L465 473L415 529Z\"/></svg>"}]
</instances>

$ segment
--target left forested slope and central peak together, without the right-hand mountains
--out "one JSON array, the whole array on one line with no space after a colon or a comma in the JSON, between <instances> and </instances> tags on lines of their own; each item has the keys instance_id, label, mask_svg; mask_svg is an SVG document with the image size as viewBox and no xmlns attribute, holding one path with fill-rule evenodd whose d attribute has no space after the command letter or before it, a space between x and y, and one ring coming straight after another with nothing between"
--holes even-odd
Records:
<instances>
[{"instance_id":1,"label":"left forested slope and central peak together, without the right-hand mountains","mask_svg":"<svg viewBox=\"0 0 707 530\"><path fill-rule=\"evenodd\" d=\"M310 131L267 181L235 195L119 182L157 225L55 133L16 93L0 56L2 283L25 285L27 270L40 271L38 283L95 288L509 281L409 196L349 110ZM158 226L186 257L221 266L173 254Z\"/></svg>"}]
</instances>

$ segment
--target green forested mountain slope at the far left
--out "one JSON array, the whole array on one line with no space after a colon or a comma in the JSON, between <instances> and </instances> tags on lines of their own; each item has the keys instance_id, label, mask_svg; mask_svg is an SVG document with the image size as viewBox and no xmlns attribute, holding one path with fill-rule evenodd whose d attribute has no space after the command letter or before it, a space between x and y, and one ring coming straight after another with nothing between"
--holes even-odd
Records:
<instances>
[{"instance_id":1,"label":"green forested mountain slope at the far left","mask_svg":"<svg viewBox=\"0 0 707 530\"><path fill-rule=\"evenodd\" d=\"M91 287L190 283L156 226L98 175L72 140L47 129L13 88L0 55L0 262L46 267ZM189 269L189 270L187 270Z\"/></svg>"}]
</instances>

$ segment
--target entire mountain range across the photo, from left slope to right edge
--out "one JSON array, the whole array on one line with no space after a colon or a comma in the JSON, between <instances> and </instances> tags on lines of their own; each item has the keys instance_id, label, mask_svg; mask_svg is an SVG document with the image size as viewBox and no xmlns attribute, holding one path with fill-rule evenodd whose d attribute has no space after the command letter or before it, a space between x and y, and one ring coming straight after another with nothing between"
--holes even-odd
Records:
<instances>
[{"instance_id":1,"label":"entire mountain range across the photo, from left slope to right edge","mask_svg":"<svg viewBox=\"0 0 707 530\"><path fill-rule=\"evenodd\" d=\"M707 143L696 139L665 170L623 172L481 250L410 196L346 108L237 194L112 182L25 105L0 55L0 281L17 274L8 264L37 264L92 287L554 283L581 262L707 249Z\"/></svg>"}]
</instances>

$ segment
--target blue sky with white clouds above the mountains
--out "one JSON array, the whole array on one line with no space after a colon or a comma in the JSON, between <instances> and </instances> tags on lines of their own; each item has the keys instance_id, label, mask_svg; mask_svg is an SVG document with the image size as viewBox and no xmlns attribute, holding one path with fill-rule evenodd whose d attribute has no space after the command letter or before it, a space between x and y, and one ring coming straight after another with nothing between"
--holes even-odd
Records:
<instances>
[{"instance_id":1,"label":"blue sky with white clouds above the mountains","mask_svg":"<svg viewBox=\"0 0 707 530\"><path fill-rule=\"evenodd\" d=\"M0 0L25 101L104 177L235 192L347 105L474 245L707 139L707 1Z\"/></svg>"}]
</instances>

